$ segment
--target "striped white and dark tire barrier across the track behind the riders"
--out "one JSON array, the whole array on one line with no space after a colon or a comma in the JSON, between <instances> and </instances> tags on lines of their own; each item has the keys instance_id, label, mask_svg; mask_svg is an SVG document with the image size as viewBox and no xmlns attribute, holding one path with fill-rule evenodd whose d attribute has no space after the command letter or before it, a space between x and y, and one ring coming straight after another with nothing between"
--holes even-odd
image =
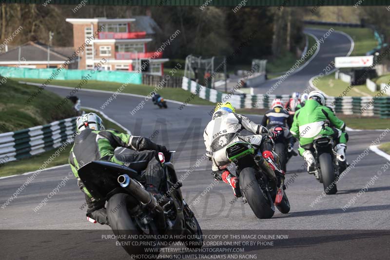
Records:
<instances>
[{"instance_id":1,"label":"striped white and dark tire barrier across the track behind the riders","mask_svg":"<svg viewBox=\"0 0 390 260\"><path fill-rule=\"evenodd\" d=\"M384 93L386 93L386 90L390 90L390 87L386 86L388 85L381 85ZM183 77L182 89L213 103L229 101L236 108L269 109L274 99L281 99L286 103L290 98L290 95L226 94L215 89L206 88L185 77ZM327 97L326 105L332 107L334 112L344 115L390 118L390 97L378 95L375 97Z\"/></svg>"}]
</instances>

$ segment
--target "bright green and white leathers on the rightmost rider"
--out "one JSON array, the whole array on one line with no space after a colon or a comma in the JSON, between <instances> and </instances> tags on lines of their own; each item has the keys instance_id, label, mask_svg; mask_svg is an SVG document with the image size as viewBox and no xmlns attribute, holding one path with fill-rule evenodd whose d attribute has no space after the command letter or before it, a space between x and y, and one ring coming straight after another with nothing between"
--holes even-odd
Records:
<instances>
[{"instance_id":1,"label":"bright green and white leathers on the rightmost rider","mask_svg":"<svg viewBox=\"0 0 390 260\"><path fill-rule=\"evenodd\" d=\"M324 127L326 120L329 120L333 127ZM345 144L347 138L344 129L344 121L338 119L329 107L311 99L295 113L290 132L299 140L300 146L312 143L318 135L332 136L338 143ZM305 150L300 147L298 151L302 155Z\"/></svg>"}]
</instances>

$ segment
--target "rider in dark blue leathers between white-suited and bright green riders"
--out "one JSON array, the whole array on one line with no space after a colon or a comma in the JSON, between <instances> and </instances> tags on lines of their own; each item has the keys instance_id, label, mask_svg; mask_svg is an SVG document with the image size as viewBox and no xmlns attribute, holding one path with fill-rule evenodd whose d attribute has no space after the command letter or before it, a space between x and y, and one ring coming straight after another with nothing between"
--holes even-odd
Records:
<instances>
[{"instance_id":1,"label":"rider in dark blue leathers between white-suited and bright green riders","mask_svg":"<svg viewBox=\"0 0 390 260\"><path fill-rule=\"evenodd\" d=\"M289 112L283 109L283 102L280 99L272 101L271 110L268 110L263 119L261 125L266 126L268 129L280 126L284 128L285 138L289 140L288 152L293 156L298 154L293 150L296 139L291 135L290 128L292 126L292 117Z\"/></svg>"}]
</instances>

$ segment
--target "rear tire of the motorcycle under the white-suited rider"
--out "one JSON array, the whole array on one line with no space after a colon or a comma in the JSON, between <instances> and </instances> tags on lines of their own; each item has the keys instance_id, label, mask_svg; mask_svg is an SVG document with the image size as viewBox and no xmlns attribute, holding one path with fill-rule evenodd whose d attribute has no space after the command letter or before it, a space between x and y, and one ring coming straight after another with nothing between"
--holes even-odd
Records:
<instances>
[{"instance_id":1,"label":"rear tire of the motorcycle under the white-suited rider","mask_svg":"<svg viewBox=\"0 0 390 260\"><path fill-rule=\"evenodd\" d=\"M271 219L275 213L273 201L268 200L257 182L254 168L244 168L240 173L240 189L254 215L259 219Z\"/></svg>"}]
</instances>

